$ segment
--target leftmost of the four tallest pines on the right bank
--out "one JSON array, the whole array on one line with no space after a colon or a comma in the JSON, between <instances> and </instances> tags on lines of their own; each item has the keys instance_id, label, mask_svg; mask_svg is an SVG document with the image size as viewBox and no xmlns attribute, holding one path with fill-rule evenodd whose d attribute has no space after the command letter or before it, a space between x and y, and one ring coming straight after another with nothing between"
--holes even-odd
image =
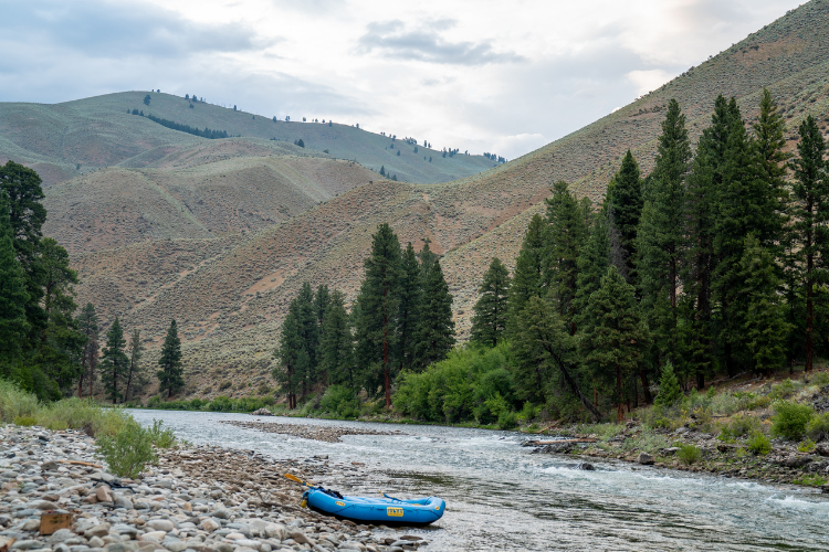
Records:
<instances>
[{"instance_id":1,"label":"leftmost of the four tallest pines on the right bank","mask_svg":"<svg viewBox=\"0 0 829 552\"><path fill-rule=\"evenodd\" d=\"M685 177L691 146L685 116L675 99L668 105L658 139L657 163L646 190L640 227L639 278L642 302L650 312L649 326L660 355L675 351L680 268L684 254Z\"/></svg>"}]
</instances>

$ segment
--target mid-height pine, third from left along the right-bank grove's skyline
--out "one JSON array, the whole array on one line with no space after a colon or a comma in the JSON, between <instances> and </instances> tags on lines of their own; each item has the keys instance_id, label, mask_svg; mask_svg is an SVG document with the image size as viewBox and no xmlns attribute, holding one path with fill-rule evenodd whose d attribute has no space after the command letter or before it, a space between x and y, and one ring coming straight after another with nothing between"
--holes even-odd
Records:
<instances>
[{"instance_id":1,"label":"mid-height pine, third from left along the right-bank grove's skyline","mask_svg":"<svg viewBox=\"0 0 829 552\"><path fill-rule=\"evenodd\" d=\"M553 195L546 200L548 242L546 270L543 279L556 299L558 311L571 322L575 316L579 248L587 238L587 211L567 189L566 182L553 184Z\"/></svg>"}]
</instances>

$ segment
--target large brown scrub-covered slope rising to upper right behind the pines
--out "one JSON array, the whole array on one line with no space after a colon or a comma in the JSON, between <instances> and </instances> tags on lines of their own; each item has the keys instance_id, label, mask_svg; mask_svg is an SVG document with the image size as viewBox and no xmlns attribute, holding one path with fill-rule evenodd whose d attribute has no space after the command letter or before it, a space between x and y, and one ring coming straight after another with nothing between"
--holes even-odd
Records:
<instances>
[{"instance_id":1,"label":"large brown scrub-covered slope rising to upper right behind the pines","mask_svg":"<svg viewBox=\"0 0 829 552\"><path fill-rule=\"evenodd\" d=\"M463 336L491 257L514 263L528 217L543 211L549 185L565 180L599 199L628 148L650 170L671 97L685 112L694 139L717 94L737 97L751 120L763 86L783 106L789 137L808 114L829 135L828 38L829 0L812 0L633 104L473 177L434 185L375 180L244 236L77 256L81 300L101 305L105 318L118 314L127 327L143 327L156 343L177 318L188 391L216 394L223 380L246 385L266 378L281 320L303 280L340 288L353 299L370 234L389 222L403 243L419 245L428 236L445 255Z\"/></svg>"}]
</instances>

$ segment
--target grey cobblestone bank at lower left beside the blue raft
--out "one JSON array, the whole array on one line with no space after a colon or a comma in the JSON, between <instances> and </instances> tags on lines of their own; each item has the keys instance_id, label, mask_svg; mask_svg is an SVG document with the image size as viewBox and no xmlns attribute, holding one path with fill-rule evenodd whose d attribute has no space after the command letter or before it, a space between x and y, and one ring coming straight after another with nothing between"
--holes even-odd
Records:
<instances>
[{"instance_id":1,"label":"grey cobblestone bank at lower left beside the blue raft","mask_svg":"<svg viewBox=\"0 0 829 552\"><path fill-rule=\"evenodd\" d=\"M0 551L402 552L426 544L405 529L358 526L300 508L301 487L325 474L359 477L361 465L325 458L275 461L217 447L159 452L139 479L107 474L82 432L0 428ZM72 524L41 535L41 516Z\"/></svg>"}]
</instances>

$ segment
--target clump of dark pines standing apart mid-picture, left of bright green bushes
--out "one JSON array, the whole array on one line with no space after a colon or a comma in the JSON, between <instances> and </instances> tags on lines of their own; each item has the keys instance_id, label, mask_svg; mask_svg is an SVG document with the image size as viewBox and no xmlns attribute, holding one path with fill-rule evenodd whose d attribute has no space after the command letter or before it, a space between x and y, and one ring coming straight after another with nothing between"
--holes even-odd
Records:
<instances>
[{"instance_id":1,"label":"clump of dark pines standing apart mid-picture, left of bright green bushes","mask_svg":"<svg viewBox=\"0 0 829 552\"><path fill-rule=\"evenodd\" d=\"M409 242L402 248L388 224L372 236L366 275L348 312L345 296L305 283L282 325L273 376L297 407L328 385L365 390L391 405L401 372L421 371L454 347L452 296L438 255Z\"/></svg>"}]
</instances>

